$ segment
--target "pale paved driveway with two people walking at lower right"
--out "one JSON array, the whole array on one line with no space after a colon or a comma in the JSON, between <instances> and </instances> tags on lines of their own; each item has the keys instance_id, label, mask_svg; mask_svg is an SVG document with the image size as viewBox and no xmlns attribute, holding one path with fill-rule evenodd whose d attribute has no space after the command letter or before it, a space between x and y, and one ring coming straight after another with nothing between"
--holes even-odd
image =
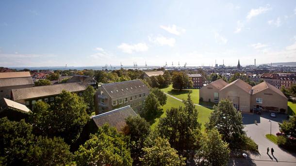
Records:
<instances>
[{"instance_id":1,"label":"pale paved driveway with two people walking at lower right","mask_svg":"<svg viewBox=\"0 0 296 166\"><path fill-rule=\"evenodd\" d=\"M243 122L245 124L245 131L247 136L250 136L257 144L259 154L250 154L250 158L253 160L267 160L274 162L295 162L296 165L296 154L285 151L280 148L278 145L274 144L270 140L268 140L265 135L270 133L271 126L271 134L276 135L276 133L280 132L279 130L279 122L282 122L286 118L286 115L278 114L277 118L269 117L268 113L263 113L262 116L259 115L247 115L243 114ZM257 124L254 124L254 121L257 121ZM270 120L270 121L268 121ZM274 155L267 154L266 149L269 147L274 149Z\"/></svg>"}]
</instances>

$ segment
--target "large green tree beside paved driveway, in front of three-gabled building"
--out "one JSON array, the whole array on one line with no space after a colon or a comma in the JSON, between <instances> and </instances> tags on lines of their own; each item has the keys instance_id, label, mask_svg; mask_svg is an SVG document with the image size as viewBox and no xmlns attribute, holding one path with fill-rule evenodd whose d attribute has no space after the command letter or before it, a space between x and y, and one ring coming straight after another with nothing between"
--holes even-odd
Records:
<instances>
[{"instance_id":1,"label":"large green tree beside paved driveway, in front of three-gabled building","mask_svg":"<svg viewBox=\"0 0 296 166\"><path fill-rule=\"evenodd\" d=\"M242 135L245 132L243 131L242 115L228 99L222 100L217 106L214 106L206 128L207 130L216 128L222 135L222 139L231 143L230 146L239 147L239 144L243 144Z\"/></svg>"}]
</instances>

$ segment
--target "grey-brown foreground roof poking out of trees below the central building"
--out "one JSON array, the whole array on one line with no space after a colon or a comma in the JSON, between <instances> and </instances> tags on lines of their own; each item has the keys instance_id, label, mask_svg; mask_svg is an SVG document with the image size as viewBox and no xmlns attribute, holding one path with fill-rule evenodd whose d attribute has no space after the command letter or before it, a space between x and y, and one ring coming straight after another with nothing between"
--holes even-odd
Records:
<instances>
[{"instance_id":1,"label":"grey-brown foreground roof poking out of trees below the central building","mask_svg":"<svg viewBox=\"0 0 296 166\"><path fill-rule=\"evenodd\" d=\"M103 114L99 114L93 117L93 120L98 127L108 123L113 126L117 131L122 131L122 128L126 125L125 119L129 116L137 116L131 106L124 106Z\"/></svg>"}]
</instances>

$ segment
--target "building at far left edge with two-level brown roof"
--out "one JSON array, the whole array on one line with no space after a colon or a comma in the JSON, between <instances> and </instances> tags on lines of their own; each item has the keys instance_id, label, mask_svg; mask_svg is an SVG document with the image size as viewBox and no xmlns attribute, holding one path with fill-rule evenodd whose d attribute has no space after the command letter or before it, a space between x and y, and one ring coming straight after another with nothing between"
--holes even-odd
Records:
<instances>
[{"instance_id":1,"label":"building at far left edge with two-level brown roof","mask_svg":"<svg viewBox=\"0 0 296 166\"><path fill-rule=\"evenodd\" d=\"M9 99L12 89L33 87L34 82L30 72L0 73L0 98Z\"/></svg>"}]
</instances>

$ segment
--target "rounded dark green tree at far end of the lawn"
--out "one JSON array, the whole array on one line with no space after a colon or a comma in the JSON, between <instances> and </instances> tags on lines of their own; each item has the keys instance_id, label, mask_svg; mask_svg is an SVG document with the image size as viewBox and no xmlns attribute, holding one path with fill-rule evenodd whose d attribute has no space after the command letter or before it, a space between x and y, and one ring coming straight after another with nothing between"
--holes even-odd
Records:
<instances>
[{"instance_id":1,"label":"rounded dark green tree at far end of the lawn","mask_svg":"<svg viewBox=\"0 0 296 166\"><path fill-rule=\"evenodd\" d=\"M190 89L193 87L192 80L183 72L174 72L172 76L172 82L173 88L178 90L182 90L185 88Z\"/></svg>"}]
</instances>

